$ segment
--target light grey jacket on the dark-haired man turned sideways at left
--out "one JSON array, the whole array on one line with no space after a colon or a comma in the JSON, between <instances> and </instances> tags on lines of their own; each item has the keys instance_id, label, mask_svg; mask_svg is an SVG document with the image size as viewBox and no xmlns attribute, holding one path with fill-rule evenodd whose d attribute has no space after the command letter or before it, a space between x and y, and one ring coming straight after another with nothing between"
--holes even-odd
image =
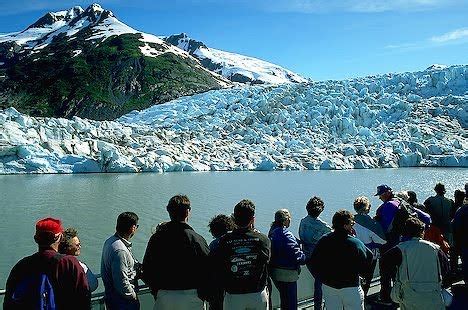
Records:
<instances>
[{"instance_id":1,"label":"light grey jacket on the dark-haired man turned sideways at left","mask_svg":"<svg viewBox=\"0 0 468 310\"><path fill-rule=\"evenodd\" d=\"M132 243L117 234L109 237L104 243L101 259L105 296L116 294L126 299L136 299L136 274Z\"/></svg>"}]
</instances>

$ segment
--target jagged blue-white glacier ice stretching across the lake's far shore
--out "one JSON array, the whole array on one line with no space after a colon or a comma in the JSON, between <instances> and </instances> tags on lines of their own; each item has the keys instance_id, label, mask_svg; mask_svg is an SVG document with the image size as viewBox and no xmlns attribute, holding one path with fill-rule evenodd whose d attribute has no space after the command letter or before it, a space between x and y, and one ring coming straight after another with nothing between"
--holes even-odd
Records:
<instances>
[{"instance_id":1,"label":"jagged blue-white glacier ice stretching across the lake's far shore","mask_svg":"<svg viewBox=\"0 0 468 310\"><path fill-rule=\"evenodd\" d=\"M0 110L0 173L468 167L468 66L244 86L114 121Z\"/></svg>"}]
</instances>

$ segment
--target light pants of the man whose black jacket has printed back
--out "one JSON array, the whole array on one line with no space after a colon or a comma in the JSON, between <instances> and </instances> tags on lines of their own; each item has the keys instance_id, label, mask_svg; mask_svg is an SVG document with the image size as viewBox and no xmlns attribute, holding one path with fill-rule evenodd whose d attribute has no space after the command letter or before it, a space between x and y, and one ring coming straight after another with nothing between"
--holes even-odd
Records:
<instances>
[{"instance_id":1,"label":"light pants of the man whose black jacket has printed back","mask_svg":"<svg viewBox=\"0 0 468 310\"><path fill-rule=\"evenodd\" d=\"M224 296L224 310L265 310L268 309L268 292L265 288L258 293L229 294Z\"/></svg>"}]
</instances>

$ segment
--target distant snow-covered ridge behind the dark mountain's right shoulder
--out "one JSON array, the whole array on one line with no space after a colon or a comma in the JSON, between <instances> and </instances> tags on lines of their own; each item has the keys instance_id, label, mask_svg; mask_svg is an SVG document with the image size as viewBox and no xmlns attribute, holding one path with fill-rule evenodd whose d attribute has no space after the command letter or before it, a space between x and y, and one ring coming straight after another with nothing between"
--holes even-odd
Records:
<instances>
[{"instance_id":1,"label":"distant snow-covered ridge behind the dark mountain's right shoulder","mask_svg":"<svg viewBox=\"0 0 468 310\"><path fill-rule=\"evenodd\" d=\"M207 47L185 33L165 37L164 40L189 52L202 65L233 82L250 84L303 83L306 79L278 65L235 53Z\"/></svg>"}]
</instances>

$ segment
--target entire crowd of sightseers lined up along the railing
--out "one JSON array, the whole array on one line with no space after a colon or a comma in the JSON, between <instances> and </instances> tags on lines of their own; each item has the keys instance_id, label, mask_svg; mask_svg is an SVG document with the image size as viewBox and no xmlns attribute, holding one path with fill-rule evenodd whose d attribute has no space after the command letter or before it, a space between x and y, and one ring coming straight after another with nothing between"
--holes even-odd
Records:
<instances>
[{"instance_id":1,"label":"entire crowd of sightseers lined up along the railing","mask_svg":"<svg viewBox=\"0 0 468 310\"><path fill-rule=\"evenodd\" d=\"M259 232L255 205L245 199L232 215L211 219L209 245L188 224L189 198L176 195L166 207L170 220L155 228L142 262L131 242L138 215L123 212L102 250L106 308L139 309L141 279L154 296L153 309L270 309L272 285L281 309L297 309L297 281L305 265L314 281L314 309L364 309L378 262L382 306L445 309L444 288L455 279L459 257L468 283L468 184L454 200L445 197L443 184L434 190L419 204L412 191L394 193L380 185L375 217L369 199L359 196L355 214L339 210L331 226L320 218L325 203L314 196L299 238L289 230L287 209L275 213L268 235ZM76 229L45 218L36 223L34 240L38 251L10 272L4 309L90 309L98 281L77 259Z\"/></svg>"}]
</instances>

